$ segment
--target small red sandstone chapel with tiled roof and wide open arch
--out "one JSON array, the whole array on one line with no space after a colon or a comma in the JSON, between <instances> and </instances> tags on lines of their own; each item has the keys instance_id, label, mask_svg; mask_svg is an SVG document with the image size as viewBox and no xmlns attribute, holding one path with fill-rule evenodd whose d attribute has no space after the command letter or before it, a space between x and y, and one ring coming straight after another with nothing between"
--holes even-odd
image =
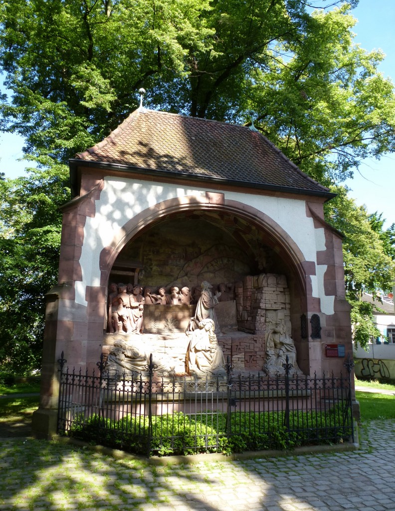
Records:
<instances>
[{"instance_id":1,"label":"small red sandstone chapel with tiled roof and wide open arch","mask_svg":"<svg viewBox=\"0 0 395 511\"><path fill-rule=\"evenodd\" d=\"M342 371L352 354L342 236L323 215L334 195L260 132L140 106L69 168L36 436L56 430L61 353L93 369L128 335L110 300L121 284L145 296L133 335L178 373L203 282L220 290L218 342L234 370L263 370L268 324L281 321L301 374Z\"/></svg>"}]
</instances>

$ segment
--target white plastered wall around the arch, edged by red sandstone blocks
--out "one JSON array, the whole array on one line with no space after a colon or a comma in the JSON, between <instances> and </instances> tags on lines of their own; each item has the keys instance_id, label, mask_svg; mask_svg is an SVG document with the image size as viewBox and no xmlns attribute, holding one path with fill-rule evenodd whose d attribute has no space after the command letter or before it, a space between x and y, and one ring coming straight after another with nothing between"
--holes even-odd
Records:
<instances>
[{"instance_id":1,"label":"white plastered wall around the arch, edged by red sandstone blocks","mask_svg":"<svg viewBox=\"0 0 395 511\"><path fill-rule=\"evenodd\" d=\"M191 189L175 184L155 184L149 181L132 181L128 178L107 176L100 199L96 201L96 215L87 218L84 227L84 244L80 258L82 281L76 282L76 303L87 305L86 286L100 285L99 259L102 249L108 246L117 233L131 218L165 200L185 196L205 196L209 189ZM272 218L293 239L306 261L317 263L317 250L325 250L323 228L315 229L313 219L306 216L304 200L256 196L225 192L225 199L239 201ZM326 265L316 264L312 275L313 296L321 298L321 310L334 312L334 296L326 296L323 275Z\"/></svg>"}]
</instances>

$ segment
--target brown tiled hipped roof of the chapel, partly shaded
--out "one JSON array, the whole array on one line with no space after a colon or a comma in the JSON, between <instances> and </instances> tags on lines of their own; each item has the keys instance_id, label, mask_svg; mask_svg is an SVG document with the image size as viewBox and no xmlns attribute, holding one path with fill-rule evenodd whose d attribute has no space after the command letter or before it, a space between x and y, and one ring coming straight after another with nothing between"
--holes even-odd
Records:
<instances>
[{"instance_id":1,"label":"brown tiled hipped roof of the chapel, partly shaded","mask_svg":"<svg viewBox=\"0 0 395 511\"><path fill-rule=\"evenodd\" d=\"M138 109L76 158L141 169L328 193L259 132L244 126Z\"/></svg>"}]
</instances>

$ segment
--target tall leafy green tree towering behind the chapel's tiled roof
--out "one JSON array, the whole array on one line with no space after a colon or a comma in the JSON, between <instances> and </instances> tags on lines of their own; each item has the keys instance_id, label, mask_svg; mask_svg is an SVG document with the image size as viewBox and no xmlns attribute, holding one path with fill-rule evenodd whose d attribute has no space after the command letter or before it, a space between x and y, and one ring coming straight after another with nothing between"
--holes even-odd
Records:
<instances>
[{"instance_id":1,"label":"tall leafy green tree towering behind the chapel's tiled roof","mask_svg":"<svg viewBox=\"0 0 395 511\"><path fill-rule=\"evenodd\" d=\"M335 1L311 12L303 0L3 2L0 67L12 97L2 98L0 129L25 137L38 169L2 184L1 243L10 255L1 263L0 295L26 286L30 275L34 290L18 300L28 311L32 297L49 289L67 159L117 127L142 86L153 108L237 123L257 112L255 125L323 184L351 175L368 155L393 151L393 87L377 72L383 55L353 43L351 7ZM7 217L12 206L14 220ZM45 258L34 253L35 243ZM11 295L3 299L6 317L13 307ZM26 314L18 328L38 339L42 311ZM5 345L16 328L7 331Z\"/></svg>"}]
</instances>

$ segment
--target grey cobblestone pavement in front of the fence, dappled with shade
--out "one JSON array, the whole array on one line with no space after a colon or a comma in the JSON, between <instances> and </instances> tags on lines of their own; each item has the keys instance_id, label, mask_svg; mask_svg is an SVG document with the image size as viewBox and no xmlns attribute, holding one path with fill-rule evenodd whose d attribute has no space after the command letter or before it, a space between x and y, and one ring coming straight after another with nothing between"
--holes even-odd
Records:
<instances>
[{"instance_id":1,"label":"grey cobblestone pavement in front of the fence, dappled with shade","mask_svg":"<svg viewBox=\"0 0 395 511\"><path fill-rule=\"evenodd\" d=\"M358 451L188 466L113 459L32 438L0 440L0 510L395 509L395 420L362 428Z\"/></svg>"}]
</instances>

